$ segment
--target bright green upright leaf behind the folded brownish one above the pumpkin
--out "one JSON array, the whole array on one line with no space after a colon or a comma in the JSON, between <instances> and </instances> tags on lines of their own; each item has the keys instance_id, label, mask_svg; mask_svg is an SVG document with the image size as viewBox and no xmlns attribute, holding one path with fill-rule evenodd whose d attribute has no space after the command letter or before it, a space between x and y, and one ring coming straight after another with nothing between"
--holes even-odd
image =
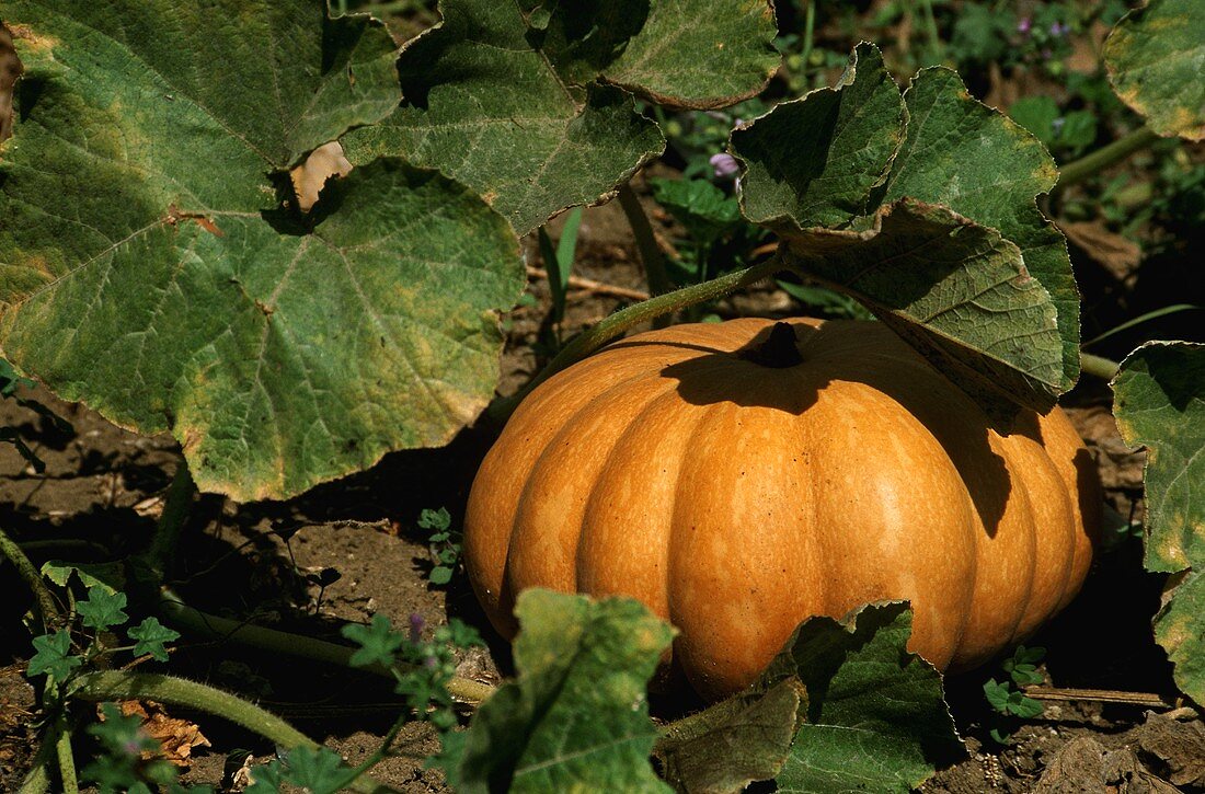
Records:
<instances>
[{"instance_id":1,"label":"bright green upright leaf behind the folded brownish one above the pumpkin","mask_svg":"<svg viewBox=\"0 0 1205 794\"><path fill-rule=\"evenodd\" d=\"M1070 389L1080 375L1080 292L1066 241L1036 202L1058 180L1054 160L1036 137L968 94L954 71L921 71L904 100L907 137L883 201L911 196L945 205L1021 248L1025 271L1050 293L1058 312L1063 372L1050 376L1046 387Z\"/></svg>"}]
</instances>

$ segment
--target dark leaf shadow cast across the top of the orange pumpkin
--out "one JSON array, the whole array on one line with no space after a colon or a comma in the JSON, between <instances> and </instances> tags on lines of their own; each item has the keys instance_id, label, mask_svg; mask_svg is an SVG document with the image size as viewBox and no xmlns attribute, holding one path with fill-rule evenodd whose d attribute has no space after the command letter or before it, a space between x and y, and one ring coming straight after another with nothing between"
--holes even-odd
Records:
<instances>
[{"instance_id":1,"label":"dark leaf shadow cast across the top of the orange pumpkin","mask_svg":"<svg viewBox=\"0 0 1205 794\"><path fill-rule=\"evenodd\" d=\"M735 351L672 341L621 342L621 346L665 346L699 355L670 364L662 376L678 381L677 392L693 405L733 402L800 414L837 381L864 383L899 402L919 419L942 446L989 536L995 536L1011 492L1004 459L992 449L987 416L906 342L881 323L829 320L819 328L790 323L768 325ZM778 329L777 331L775 329ZM1010 435L1042 445L1036 414L1022 412ZM1045 446L1045 445L1044 445ZM1087 452L1076 455L1081 493L1092 478Z\"/></svg>"}]
</instances>

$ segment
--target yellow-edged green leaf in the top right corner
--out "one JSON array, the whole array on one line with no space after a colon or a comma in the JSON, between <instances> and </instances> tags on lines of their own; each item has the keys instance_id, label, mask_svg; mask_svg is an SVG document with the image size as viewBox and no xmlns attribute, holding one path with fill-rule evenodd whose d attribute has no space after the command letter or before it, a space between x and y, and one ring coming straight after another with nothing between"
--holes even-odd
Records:
<instances>
[{"instance_id":1,"label":"yellow-edged green leaf in the top right corner","mask_svg":"<svg viewBox=\"0 0 1205 794\"><path fill-rule=\"evenodd\" d=\"M1109 80L1159 135L1205 140L1205 4L1150 0L1105 40Z\"/></svg>"}]
</instances>

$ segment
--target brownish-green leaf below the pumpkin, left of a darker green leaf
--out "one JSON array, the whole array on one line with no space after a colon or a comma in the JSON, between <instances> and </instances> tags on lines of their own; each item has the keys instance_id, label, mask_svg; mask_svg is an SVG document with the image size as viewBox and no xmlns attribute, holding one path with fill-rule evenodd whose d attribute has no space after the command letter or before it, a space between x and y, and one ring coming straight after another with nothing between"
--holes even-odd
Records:
<instances>
[{"instance_id":1,"label":"brownish-green leaf below the pumpkin, left of a darker green leaf","mask_svg":"<svg viewBox=\"0 0 1205 794\"><path fill-rule=\"evenodd\" d=\"M743 792L778 774L795 739L801 686L787 678L674 723L653 755L680 792Z\"/></svg>"}]
</instances>

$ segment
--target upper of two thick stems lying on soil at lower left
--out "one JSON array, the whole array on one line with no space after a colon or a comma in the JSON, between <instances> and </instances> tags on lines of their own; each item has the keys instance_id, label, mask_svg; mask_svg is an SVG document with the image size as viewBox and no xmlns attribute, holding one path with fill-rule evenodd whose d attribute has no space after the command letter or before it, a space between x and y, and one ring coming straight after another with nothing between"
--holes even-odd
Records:
<instances>
[{"instance_id":1,"label":"upper of two thick stems lying on soil at lower left","mask_svg":"<svg viewBox=\"0 0 1205 794\"><path fill-rule=\"evenodd\" d=\"M216 614L206 614L186 605L180 596L171 592L164 592L161 595L159 613L165 621L193 634L207 636L213 640L231 640L251 648L268 651L269 653L300 657L342 667L352 666L351 658L355 653L355 648L346 645L324 642L323 640L289 634L288 631L266 629L249 623L221 618ZM392 670L381 665L360 669L387 678L393 677ZM482 702L494 692L494 688L489 684L459 677L449 681L447 689L457 700L474 705Z\"/></svg>"}]
</instances>

